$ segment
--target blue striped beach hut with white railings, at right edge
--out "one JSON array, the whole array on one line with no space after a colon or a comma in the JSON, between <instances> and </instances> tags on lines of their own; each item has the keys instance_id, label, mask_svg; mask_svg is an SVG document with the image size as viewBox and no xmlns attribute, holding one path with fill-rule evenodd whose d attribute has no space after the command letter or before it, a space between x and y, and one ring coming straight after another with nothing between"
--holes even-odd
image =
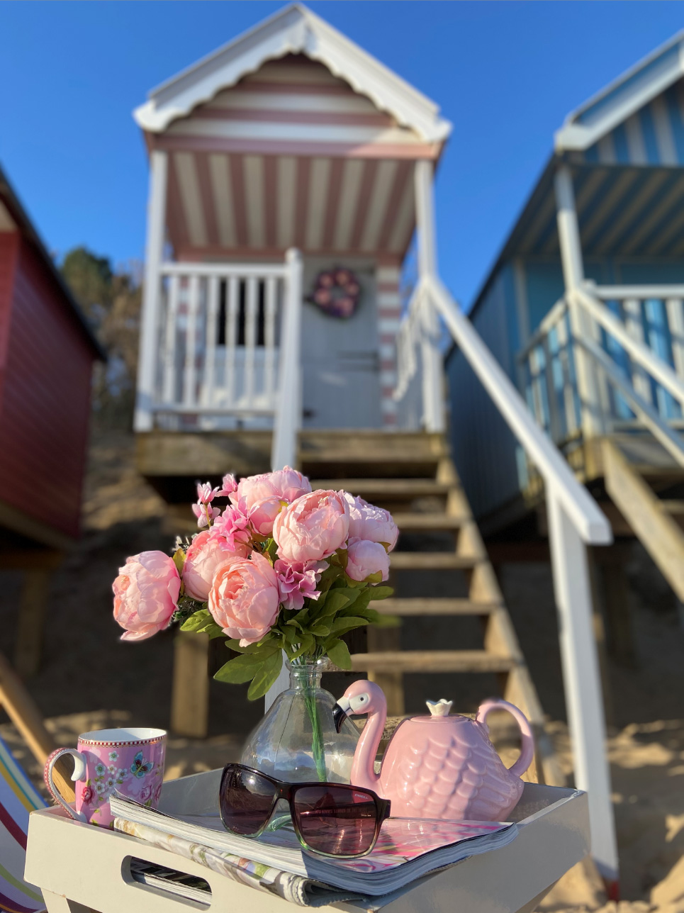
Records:
<instances>
[{"instance_id":1,"label":"blue striped beach hut with white railings, at right edge","mask_svg":"<svg viewBox=\"0 0 684 913\"><path fill-rule=\"evenodd\" d=\"M681 32L567 116L469 315L616 535L642 540L680 600L683 255ZM456 349L447 374L484 530L543 540L527 457Z\"/></svg>"}]
</instances>

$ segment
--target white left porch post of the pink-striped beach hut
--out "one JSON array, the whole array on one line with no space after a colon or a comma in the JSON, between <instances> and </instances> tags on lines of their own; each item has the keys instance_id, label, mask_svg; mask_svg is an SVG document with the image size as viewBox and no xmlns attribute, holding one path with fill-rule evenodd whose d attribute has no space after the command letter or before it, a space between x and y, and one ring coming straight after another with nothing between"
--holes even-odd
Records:
<instances>
[{"instance_id":1,"label":"white left porch post of the pink-striped beach hut","mask_svg":"<svg viewBox=\"0 0 684 913\"><path fill-rule=\"evenodd\" d=\"M138 353L138 383L135 398L133 426L136 431L153 428L153 404L159 357L160 305L162 277L164 224L166 220L166 152L155 149L150 156L150 194L147 205L147 243L145 250L145 278L142 289L141 339Z\"/></svg>"}]
</instances>

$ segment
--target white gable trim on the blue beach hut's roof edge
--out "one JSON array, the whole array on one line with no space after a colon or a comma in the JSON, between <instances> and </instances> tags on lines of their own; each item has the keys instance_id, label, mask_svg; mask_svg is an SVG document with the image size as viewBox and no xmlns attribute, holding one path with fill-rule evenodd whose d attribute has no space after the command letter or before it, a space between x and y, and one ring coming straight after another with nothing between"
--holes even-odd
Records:
<instances>
[{"instance_id":1,"label":"white gable trim on the blue beach hut's roof edge","mask_svg":"<svg viewBox=\"0 0 684 913\"><path fill-rule=\"evenodd\" d=\"M684 30L565 118L556 152L584 151L684 77Z\"/></svg>"}]
</instances>

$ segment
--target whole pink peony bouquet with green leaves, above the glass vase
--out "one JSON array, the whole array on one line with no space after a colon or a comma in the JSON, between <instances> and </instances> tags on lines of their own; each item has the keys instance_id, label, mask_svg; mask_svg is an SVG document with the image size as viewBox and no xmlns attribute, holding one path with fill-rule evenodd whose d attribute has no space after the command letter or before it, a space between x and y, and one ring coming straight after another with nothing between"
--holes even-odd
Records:
<instances>
[{"instance_id":1,"label":"whole pink peony bouquet with green leaves, above the glass vase","mask_svg":"<svg viewBox=\"0 0 684 913\"><path fill-rule=\"evenodd\" d=\"M251 680L252 700L278 677L283 652L290 662L329 656L351 668L342 635L378 624L369 603L392 593L374 586L387 580L399 534L391 514L346 491L311 491L289 467L198 485L193 512L200 531L176 540L173 557L142 551L120 568L112 589L123 640L145 640L174 621L227 637L240 656L215 677Z\"/></svg>"}]
</instances>

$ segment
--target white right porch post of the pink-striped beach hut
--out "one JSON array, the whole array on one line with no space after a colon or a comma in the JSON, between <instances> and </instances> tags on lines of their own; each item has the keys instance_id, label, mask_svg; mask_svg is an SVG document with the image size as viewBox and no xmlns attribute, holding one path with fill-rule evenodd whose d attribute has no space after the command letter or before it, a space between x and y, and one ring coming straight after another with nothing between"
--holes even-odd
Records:
<instances>
[{"instance_id":1,"label":"white right porch post of the pink-striped beach hut","mask_svg":"<svg viewBox=\"0 0 684 913\"><path fill-rule=\"evenodd\" d=\"M422 280L437 277L435 199L432 163L421 159L415 167L418 276ZM445 428L444 379L442 354L439 351L439 320L429 295L423 297L420 307L423 421L426 431L442 432Z\"/></svg>"}]
</instances>

